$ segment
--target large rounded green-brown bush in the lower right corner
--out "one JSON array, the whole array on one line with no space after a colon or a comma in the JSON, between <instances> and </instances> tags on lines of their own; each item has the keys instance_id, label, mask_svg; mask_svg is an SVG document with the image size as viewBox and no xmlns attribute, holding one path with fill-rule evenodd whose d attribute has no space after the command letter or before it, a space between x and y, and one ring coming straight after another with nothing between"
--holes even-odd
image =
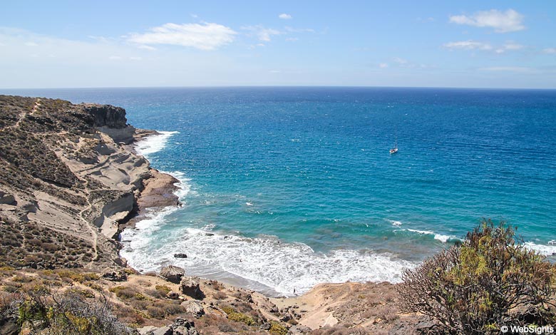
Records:
<instances>
[{"instance_id":1,"label":"large rounded green-brown bush in the lower right corner","mask_svg":"<svg viewBox=\"0 0 556 335\"><path fill-rule=\"evenodd\" d=\"M483 220L465 241L403 272L402 311L421 312L449 334L498 334L500 326L550 325L555 269L515 242L515 228Z\"/></svg>"}]
</instances>

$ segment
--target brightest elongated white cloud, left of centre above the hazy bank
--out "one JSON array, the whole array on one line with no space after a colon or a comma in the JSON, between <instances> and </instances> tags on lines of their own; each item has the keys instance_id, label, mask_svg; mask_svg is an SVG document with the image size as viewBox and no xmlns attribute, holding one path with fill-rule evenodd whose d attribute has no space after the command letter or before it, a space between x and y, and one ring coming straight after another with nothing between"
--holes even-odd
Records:
<instances>
[{"instance_id":1,"label":"brightest elongated white cloud, left of centre above the hazy bank","mask_svg":"<svg viewBox=\"0 0 556 335\"><path fill-rule=\"evenodd\" d=\"M147 33L132 33L128 41L142 46L170 44L190 46L200 50L216 50L232 43L237 32L221 24L163 24L149 29Z\"/></svg>"}]
</instances>

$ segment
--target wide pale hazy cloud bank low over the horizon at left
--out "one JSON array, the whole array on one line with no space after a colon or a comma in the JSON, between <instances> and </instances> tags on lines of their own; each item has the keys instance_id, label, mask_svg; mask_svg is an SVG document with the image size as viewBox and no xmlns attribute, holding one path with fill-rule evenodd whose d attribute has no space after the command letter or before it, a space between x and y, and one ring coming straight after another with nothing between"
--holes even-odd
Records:
<instances>
[{"instance_id":1,"label":"wide pale hazy cloud bank low over the horizon at left","mask_svg":"<svg viewBox=\"0 0 556 335\"><path fill-rule=\"evenodd\" d=\"M40 47L25 46L29 41ZM127 37L108 43L70 40L0 27L0 42L9 46L0 48L0 88L221 86L237 83L244 74L222 53L185 52L183 48L153 53L126 41ZM257 83L249 79L244 83Z\"/></svg>"}]
</instances>

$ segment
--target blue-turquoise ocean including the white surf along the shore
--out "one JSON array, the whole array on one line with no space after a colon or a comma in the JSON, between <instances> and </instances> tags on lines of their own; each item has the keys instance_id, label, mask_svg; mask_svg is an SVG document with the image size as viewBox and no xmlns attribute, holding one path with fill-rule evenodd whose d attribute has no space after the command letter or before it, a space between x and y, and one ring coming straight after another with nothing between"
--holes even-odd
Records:
<instances>
[{"instance_id":1,"label":"blue-turquoise ocean including the white surf along the shore","mask_svg":"<svg viewBox=\"0 0 556 335\"><path fill-rule=\"evenodd\" d=\"M0 91L119 105L161 133L138 152L181 181L183 205L122 233L141 271L175 264L274 295L398 282L483 217L555 258L554 90Z\"/></svg>"}]
</instances>

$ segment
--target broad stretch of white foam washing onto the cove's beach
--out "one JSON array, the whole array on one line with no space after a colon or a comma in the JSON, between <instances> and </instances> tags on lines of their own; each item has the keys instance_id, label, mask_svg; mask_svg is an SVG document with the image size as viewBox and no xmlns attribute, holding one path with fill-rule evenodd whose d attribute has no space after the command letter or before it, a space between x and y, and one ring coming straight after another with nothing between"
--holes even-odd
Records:
<instances>
[{"instance_id":1,"label":"broad stretch of white foam washing onto the cove's beach","mask_svg":"<svg viewBox=\"0 0 556 335\"><path fill-rule=\"evenodd\" d=\"M160 222L153 224L159 225ZM121 252L135 269L159 271L171 262L192 274L210 277L225 273L286 295L294 289L307 292L323 282L399 282L403 269L415 265L371 250L334 250L322 254L307 244L283 243L276 237L249 238L194 228L174 232L171 240L155 246L153 228L138 228ZM144 243L145 240L151 244ZM175 259L176 252L187 253L187 259Z\"/></svg>"}]
</instances>

